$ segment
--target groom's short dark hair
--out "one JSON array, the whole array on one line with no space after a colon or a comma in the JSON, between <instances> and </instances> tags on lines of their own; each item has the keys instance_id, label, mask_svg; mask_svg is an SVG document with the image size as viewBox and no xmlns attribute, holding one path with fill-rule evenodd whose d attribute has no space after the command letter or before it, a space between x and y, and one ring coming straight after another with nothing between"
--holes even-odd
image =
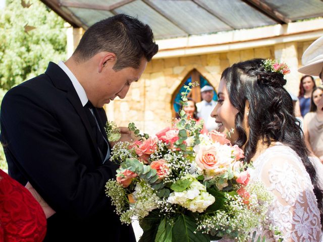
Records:
<instances>
[{"instance_id":1,"label":"groom's short dark hair","mask_svg":"<svg viewBox=\"0 0 323 242\"><path fill-rule=\"evenodd\" d=\"M149 62L158 51L147 24L125 14L101 20L89 27L73 53L77 62L87 61L101 51L116 54L113 69L139 68L142 57Z\"/></svg>"}]
</instances>

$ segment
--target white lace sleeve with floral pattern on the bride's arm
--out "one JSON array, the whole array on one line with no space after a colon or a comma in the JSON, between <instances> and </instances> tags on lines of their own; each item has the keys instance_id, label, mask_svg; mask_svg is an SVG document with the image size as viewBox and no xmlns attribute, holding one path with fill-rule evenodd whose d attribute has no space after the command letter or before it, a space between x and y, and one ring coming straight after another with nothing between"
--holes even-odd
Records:
<instances>
[{"instance_id":1,"label":"white lace sleeve with floral pattern on the bride's arm","mask_svg":"<svg viewBox=\"0 0 323 242\"><path fill-rule=\"evenodd\" d=\"M274 194L268 225L278 227L284 241L320 241L319 210L310 177L298 156L267 159L260 179Z\"/></svg>"}]
</instances>

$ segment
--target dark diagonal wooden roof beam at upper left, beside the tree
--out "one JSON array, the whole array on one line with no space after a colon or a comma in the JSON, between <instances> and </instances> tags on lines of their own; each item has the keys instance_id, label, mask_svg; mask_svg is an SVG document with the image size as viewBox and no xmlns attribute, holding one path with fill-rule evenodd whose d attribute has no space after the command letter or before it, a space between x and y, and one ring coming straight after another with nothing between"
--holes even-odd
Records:
<instances>
[{"instance_id":1,"label":"dark diagonal wooden roof beam at upper left, beside the tree","mask_svg":"<svg viewBox=\"0 0 323 242\"><path fill-rule=\"evenodd\" d=\"M68 9L62 9L58 0L40 0L48 8L54 11L62 19L68 22L74 28L84 28L87 29L86 24L82 23L74 14Z\"/></svg>"}]
</instances>

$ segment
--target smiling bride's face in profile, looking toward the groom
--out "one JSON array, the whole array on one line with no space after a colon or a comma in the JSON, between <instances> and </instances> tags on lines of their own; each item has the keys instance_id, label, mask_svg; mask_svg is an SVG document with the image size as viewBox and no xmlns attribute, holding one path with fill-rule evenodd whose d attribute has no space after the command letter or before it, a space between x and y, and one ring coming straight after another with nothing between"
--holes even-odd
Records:
<instances>
[{"instance_id":1,"label":"smiling bride's face in profile, looking toward the groom","mask_svg":"<svg viewBox=\"0 0 323 242\"><path fill-rule=\"evenodd\" d=\"M225 79L221 79L220 81L218 97L218 103L211 112L211 116L216 118L216 123L220 124L218 131L226 133L232 128L235 128L234 122L238 109L235 108L230 102ZM227 138L231 142L234 142L238 138L237 132L231 134L231 138Z\"/></svg>"}]
</instances>

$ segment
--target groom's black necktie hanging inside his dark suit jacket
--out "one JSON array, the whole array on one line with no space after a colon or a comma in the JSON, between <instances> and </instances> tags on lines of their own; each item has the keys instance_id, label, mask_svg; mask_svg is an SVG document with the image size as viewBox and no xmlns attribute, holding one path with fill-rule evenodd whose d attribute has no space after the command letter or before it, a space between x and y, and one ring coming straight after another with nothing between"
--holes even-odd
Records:
<instances>
[{"instance_id":1,"label":"groom's black necktie hanging inside his dark suit jacket","mask_svg":"<svg viewBox=\"0 0 323 242\"><path fill-rule=\"evenodd\" d=\"M104 163L108 147L107 147L107 141L104 139L103 134L101 133L101 130L99 128L99 124L97 121L98 120L97 110L90 101L88 101L85 104L84 108L92 128L92 133L95 137L95 140L98 146L101 160Z\"/></svg>"}]
</instances>

